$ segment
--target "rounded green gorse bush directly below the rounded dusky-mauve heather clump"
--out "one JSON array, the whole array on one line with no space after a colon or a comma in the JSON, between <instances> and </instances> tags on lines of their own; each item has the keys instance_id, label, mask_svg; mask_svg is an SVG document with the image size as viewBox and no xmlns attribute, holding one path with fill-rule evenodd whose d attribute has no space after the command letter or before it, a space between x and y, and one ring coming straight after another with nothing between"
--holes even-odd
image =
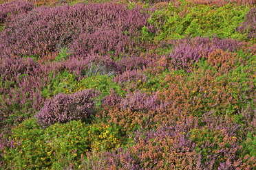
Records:
<instances>
[{"instance_id":1,"label":"rounded green gorse bush directly below the rounded dusky-mauve heather clump","mask_svg":"<svg viewBox=\"0 0 256 170\"><path fill-rule=\"evenodd\" d=\"M76 166L80 164L81 155L90 149L91 139L89 139L88 130L89 128L81 121L56 123L47 127L44 140L55 155L52 160L53 169L67 166L67 160Z\"/></svg>"}]
</instances>

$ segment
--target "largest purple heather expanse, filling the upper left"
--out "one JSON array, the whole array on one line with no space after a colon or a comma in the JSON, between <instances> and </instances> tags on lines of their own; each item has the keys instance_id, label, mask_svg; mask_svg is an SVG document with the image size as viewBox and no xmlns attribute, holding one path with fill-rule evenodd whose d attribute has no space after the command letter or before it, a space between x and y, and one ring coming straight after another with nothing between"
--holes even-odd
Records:
<instances>
[{"instance_id":1,"label":"largest purple heather expanse, filling the upper left","mask_svg":"<svg viewBox=\"0 0 256 170\"><path fill-rule=\"evenodd\" d=\"M56 53L57 47L69 48L76 57L92 52L118 55L136 52L136 47L144 42L133 38L148 25L149 14L141 11L140 7L129 10L111 3L35 8L3 30L1 54L41 57ZM22 33L15 34L17 29ZM152 31L149 27L149 32Z\"/></svg>"}]
</instances>

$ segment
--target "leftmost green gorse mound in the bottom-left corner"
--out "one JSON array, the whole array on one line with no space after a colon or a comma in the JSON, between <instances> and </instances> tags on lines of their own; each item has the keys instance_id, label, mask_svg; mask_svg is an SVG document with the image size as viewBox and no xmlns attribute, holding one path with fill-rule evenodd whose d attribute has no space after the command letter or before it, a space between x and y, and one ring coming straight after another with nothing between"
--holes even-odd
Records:
<instances>
[{"instance_id":1,"label":"leftmost green gorse mound in the bottom-left corner","mask_svg":"<svg viewBox=\"0 0 256 170\"><path fill-rule=\"evenodd\" d=\"M51 166L52 148L43 140L43 130L34 118L12 129L12 138L21 144L7 151L4 156L6 162L11 160L17 169L45 169Z\"/></svg>"}]
</instances>

